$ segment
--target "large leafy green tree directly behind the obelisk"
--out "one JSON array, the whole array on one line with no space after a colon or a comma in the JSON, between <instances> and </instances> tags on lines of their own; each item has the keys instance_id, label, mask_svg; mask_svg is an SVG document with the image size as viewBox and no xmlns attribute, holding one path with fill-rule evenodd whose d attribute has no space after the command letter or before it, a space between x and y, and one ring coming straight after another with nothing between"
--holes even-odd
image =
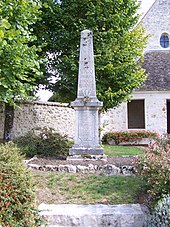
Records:
<instances>
[{"instance_id":1,"label":"large leafy green tree directly behind the obelisk","mask_svg":"<svg viewBox=\"0 0 170 227\"><path fill-rule=\"evenodd\" d=\"M119 105L142 85L146 75L141 68L141 56L147 37L142 26L136 26L137 0L47 3L49 7L43 8L42 21L36 24L36 35L47 44L46 71L55 71L60 78L53 86L57 101L76 97L80 32L84 29L94 34L97 96L105 109Z\"/></svg>"}]
</instances>

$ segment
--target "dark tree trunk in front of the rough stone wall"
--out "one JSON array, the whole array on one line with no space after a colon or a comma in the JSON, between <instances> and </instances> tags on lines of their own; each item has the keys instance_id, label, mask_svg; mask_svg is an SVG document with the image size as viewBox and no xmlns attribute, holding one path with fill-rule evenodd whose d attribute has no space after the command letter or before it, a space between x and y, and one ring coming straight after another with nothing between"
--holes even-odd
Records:
<instances>
[{"instance_id":1,"label":"dark tree trunk in front of the rough stone wall","mask_svg":"<svg viewBox=\"0 0 170 227\"><path fill-rule=\"evenodd\" d=\"M12 139L14 123L14 106L5 103L5 122L4 122L4 136L3 142L6 143Z\"/></svg>"}]
</instances>

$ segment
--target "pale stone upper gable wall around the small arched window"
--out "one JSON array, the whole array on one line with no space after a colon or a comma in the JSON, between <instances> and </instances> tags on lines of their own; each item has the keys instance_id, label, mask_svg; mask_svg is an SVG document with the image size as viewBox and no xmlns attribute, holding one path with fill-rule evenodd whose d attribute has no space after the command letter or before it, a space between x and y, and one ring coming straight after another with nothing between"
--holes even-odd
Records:
<instances>
[{"instance_id":1,"label":"pale stone upper gable wall around the small arched window","mask_svg":"<svg viewBox=\"0 0 170 227\"><path fill-rule=\"evenodd\" d=\"M150 10L142 19L147 34L152 34L148 40L146 51L148 50L170 50L160 46L162 33L170 35L170 1L156 0Z\"/></svg>"}]
</instances>

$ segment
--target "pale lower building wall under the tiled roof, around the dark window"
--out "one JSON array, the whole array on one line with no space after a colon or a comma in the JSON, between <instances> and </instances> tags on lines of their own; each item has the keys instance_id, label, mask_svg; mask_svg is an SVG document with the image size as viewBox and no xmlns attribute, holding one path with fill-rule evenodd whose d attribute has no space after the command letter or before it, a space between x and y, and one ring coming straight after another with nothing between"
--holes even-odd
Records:
<instances>
[{"instance_id":1,"label":"pale lower building wall under the tiled roof, around the dark window","mask_svg":"<svg viewBox=\"0 0 170 227\"><path fill-rule=\"evenodd\" d=\"M167 133L167 100L170 100L169 92L134 92L132 99L145 100L145 130L151 130L160 134ZM123 103L116 109L110 109L102 115L102 134L107 131L119 131L128 129L127 103Z\"/></svg>"}]
</instances>

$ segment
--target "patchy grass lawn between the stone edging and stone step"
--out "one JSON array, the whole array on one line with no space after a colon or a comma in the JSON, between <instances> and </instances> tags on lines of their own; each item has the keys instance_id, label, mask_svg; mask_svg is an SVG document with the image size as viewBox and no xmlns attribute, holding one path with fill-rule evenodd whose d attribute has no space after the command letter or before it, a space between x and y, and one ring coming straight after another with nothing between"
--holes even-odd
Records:
<instances>
[{"instance_id":1,"label":"patchy grass lawn between the stone edging and stone step","mask_svg":"<svg viewBox=\"0 0 170 227\"><path fill-rule=\"evenodd\" d=\"M140 177L39 172L34 179L37 204L138 203L144 187Z\"/></svg>"}]
</instances>

